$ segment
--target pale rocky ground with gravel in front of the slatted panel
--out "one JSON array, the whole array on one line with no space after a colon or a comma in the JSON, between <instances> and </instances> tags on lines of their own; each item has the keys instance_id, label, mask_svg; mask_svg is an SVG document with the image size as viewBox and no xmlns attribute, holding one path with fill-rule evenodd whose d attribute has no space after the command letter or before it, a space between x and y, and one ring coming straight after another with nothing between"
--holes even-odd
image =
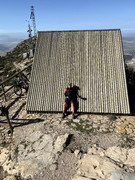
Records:
<instances>
[{"instance_id":1,"label":"pale rocky ground with gravel in front of the slatted panel","mask_svg":"<svg viewBox=\"0 0 135 180\"><path fill-rule=\"evenodd\" d=\"M27 95L0 116L0 179L135 180L135 117L27 114Z\"/></svg>"}]
</instances>

